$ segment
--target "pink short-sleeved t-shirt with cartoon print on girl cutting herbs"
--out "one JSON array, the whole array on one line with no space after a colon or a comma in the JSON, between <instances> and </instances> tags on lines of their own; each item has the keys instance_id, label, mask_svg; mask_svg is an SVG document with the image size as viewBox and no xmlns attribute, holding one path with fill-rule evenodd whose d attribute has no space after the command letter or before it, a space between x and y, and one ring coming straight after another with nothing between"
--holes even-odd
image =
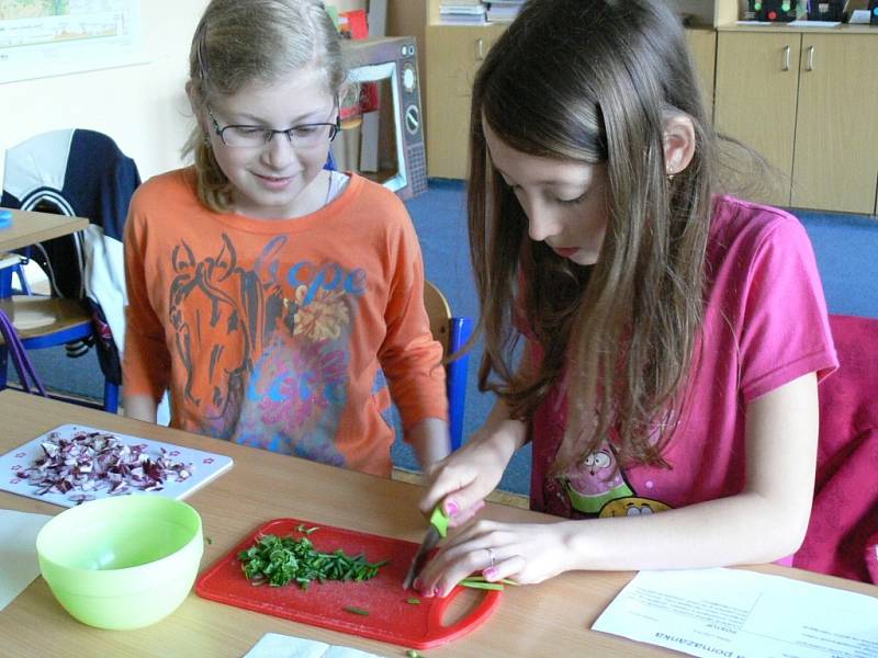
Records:
<instances>
[{"instance_id":1,"label":"pink short-sleeved t-shirt with cartoon print on girl cutting herbs","mask_svg":"<svg viewBox=\"0 0 878 658\"><path fill-rule=\"evenodd\" d=\"M671 468L619 469L605 445L575 472L547 478L566 423L566 397L556 386L532 421L532 509L618 517L739 494L746 406L807 373L822 379L837 367L811 243L793 216L717 197L687 410L664 452Z\"/></svg>"}]
</instances>

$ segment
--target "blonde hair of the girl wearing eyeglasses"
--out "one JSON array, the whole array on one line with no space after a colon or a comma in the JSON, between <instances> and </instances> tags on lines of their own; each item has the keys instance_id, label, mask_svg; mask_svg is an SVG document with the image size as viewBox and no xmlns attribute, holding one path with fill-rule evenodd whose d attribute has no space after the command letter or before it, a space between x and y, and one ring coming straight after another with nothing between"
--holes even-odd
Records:
<instances>
[{"instance_id":1,"label":"blonde hair of the girl wearing eyeglasses","mask_svg":"<svg viewBox=\"0 0 878 658\"><path fill-rule=\"evenodd\" d=\"M217 95L252 82L271 84L293 71L315 67L338 98L347 75L335 24L316 0L212 0L201 16L189 52L187 90L196 115ZM193 154L199 200L225 213L232 184L200 125L183 146Z\"/></svg>"}]
</instances>

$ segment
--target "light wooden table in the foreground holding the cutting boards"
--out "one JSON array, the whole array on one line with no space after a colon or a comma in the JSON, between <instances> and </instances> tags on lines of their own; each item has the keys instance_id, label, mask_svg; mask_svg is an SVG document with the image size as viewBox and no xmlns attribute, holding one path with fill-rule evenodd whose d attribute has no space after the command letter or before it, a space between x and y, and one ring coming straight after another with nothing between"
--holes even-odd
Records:
<instances>
[{"instance_id":1,"label":"light wooden table in the foreground holding the cutting boards","mask_svg":"<svg viewBox=\"0 0 878 658\"><path fill-rule=\"evenodd\" d=\"M232 456L233 469L194 492L188 501L201 513L205 545L202 569L226 554L263 521L293 517L419 541L425 522L415 485L352 473L294 457L244 447L102 411L36 396L0 393L0 454L63 423L89 424ZM61 508L0 491L0 507L56 514ZM549 521L550 517L489 503L494 519ZM878 587L774 565L755 570L778 574L878 597ZM677 656L658 647L589 631L598 614L632 578L631 572L570 572L537 586L507 588L498 610L470 635L425 656ZM170 616L138 631L111 632L86 626L55 601L42 578L0 612L2 653L32 656L240 657L267 632L359 647L387 657L405 648L325 631L223 605L194 592Z\"/></svg>"}]
</instances>

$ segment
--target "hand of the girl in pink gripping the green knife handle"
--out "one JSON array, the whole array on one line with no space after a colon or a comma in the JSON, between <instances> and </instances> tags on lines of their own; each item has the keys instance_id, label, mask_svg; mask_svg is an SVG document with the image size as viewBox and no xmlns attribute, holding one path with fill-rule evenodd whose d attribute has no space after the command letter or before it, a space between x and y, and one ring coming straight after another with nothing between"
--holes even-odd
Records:
<instances>
[{"instance_id":1,"label":"hand of the girl in pink gripping the green knife handle","mask_svg":"<svg viewBox=\"0 0 878 658\"><path fill-rule=\"evenodd\" d=\"M429 515L441 502L451 527L469 521L500 481L520 445L520 434L524 426L518 421L491 423L463 447L431 466L427 470L427 494L420 501L420 511Z\"/></svg>"}]
</instances>

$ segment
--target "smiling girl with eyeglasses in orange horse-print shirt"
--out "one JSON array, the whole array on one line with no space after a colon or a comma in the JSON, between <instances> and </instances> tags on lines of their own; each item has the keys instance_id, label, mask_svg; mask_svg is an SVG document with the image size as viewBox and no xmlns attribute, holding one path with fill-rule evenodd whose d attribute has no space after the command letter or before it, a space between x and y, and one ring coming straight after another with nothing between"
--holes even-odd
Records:
<instances>
[{"instance_id":1,"label":"smiling girl with eyeglasses in orange horse-print shirt","mask_svg":"<svg viewBox=\"0 0 878 658\"><path fill-rule=\"evenodd\" d=\"M320 2L213 0L192 39L194 164L126 225L127 416L387 476L393 401L423 466L449 451L442 349L402 202L324 169L346 77ZM382 375L383 373L383 375Z\"/></svg>"}]
</instances>

